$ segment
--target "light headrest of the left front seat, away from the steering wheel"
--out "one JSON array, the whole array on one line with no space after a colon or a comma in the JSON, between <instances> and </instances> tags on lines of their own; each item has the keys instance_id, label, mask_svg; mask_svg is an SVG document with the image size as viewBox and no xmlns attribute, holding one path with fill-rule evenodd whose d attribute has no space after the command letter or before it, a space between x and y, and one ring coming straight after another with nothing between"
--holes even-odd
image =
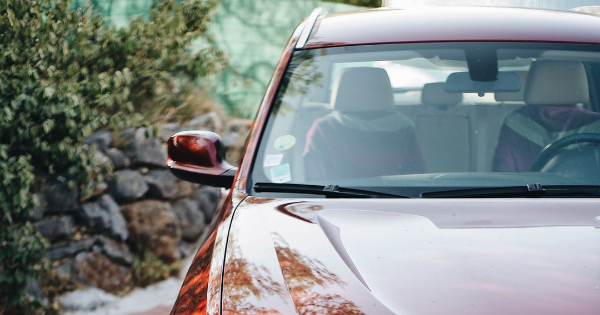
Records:
<instances>
[{"instance_id":1,"label":"light headrest of the left front seat, away from the steering wheel","mask_svg":"<svg viewBox=\"0 0 600 315\"><path fill-rule=\"evenodd\" d=\"M347 68L333 84L333 109L366 111L391 109L394 92L387 72L382 68Z\"/></svg>"}]
</instances>

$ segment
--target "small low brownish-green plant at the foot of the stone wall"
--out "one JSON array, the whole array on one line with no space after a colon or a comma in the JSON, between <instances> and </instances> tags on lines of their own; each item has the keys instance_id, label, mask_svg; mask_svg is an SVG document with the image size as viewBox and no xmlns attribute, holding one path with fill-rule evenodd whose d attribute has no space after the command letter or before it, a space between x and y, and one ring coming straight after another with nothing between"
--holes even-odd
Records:
<instances>
[{"instance_id":1,"label":"small low brownish-green plant at the foot of the stone wall","mask_svg":"<svg viewBox=\"0 0 600 315\"><path fill-rule=\"evenodd\" d=\"M132 270L135 285L145 287L176 275L181 270L181 264L178 262L167 264L152 251L146 250L142 257L133 257Z\"/></svg>"}]
</instances>

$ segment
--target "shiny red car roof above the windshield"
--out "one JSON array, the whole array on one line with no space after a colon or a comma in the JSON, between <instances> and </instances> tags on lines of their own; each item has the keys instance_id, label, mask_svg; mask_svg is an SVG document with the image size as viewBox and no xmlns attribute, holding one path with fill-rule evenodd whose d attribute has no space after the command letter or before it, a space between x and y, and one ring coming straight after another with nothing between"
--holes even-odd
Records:
<instances>
[{"instance_id":1,"label":"shiny red car roof above the windshield","mask_svg":"<svg viewBox=\"0 0 600 315\"><path fill-rule=\"evenodd\" d=\"M304 48L460 41L599 44L600 17L505 7L360 10L319 18Z\"/></svg>"}]
</instances>

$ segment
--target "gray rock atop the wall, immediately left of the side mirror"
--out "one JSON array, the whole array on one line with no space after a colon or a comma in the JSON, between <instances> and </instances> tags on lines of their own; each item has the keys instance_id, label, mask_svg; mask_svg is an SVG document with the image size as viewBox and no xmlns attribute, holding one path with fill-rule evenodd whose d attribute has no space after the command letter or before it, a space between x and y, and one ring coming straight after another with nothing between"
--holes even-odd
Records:
<instances>
[{"instance_id":1,"label":"gray rock atop the wall, immediately left of the side mirror","mask_svg":"<svg viewBox=\"0 0 600 315\"><path fill-rule=\"evenodd\" d=\"M121 133L120 138L126 143L123 152L133 165L167 167L167 152L160 139L146 137L146 130L129 129Z\"/></svg>"}]
</instances>

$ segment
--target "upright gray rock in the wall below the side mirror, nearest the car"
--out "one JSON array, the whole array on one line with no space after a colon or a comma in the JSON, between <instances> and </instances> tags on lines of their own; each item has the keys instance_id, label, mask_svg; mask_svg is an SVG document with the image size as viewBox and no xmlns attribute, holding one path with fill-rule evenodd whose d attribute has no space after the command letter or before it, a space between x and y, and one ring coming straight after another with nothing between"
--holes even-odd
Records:
<instances>
[{"instance_id":1,"label":"upright gray rock in the wall below the side mirror, nearest the car","mask_svg":"<svg viewBox=\"0 0 600 315\"><path fill-rule=\"evenodd\" d=\"M204 212L200 210L200 203L194 199L182 199L173 203L173 210L179 219L181 237L193 242L202 234L206 227Z\"/></svg>"}]
</instances>

